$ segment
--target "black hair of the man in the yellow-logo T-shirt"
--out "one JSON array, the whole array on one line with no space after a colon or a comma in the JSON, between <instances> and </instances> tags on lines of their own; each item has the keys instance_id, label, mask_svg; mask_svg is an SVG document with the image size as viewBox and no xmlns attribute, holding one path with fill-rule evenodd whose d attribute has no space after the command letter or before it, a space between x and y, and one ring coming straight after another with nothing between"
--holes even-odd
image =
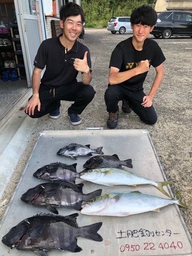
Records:
<instances>
[{"instance_id":1,"label":"black hair of the man in the yellow-logo T-shirt","mask_svg":"<svg viewBox=\"0 0 192 256\"><path fill-rule=\"evenodd\" d=\"M157 13L151 6L143 4L133 10L130 22L131 24L142 24L152 27L157 22Z\"/></svg>"}]
</instances>

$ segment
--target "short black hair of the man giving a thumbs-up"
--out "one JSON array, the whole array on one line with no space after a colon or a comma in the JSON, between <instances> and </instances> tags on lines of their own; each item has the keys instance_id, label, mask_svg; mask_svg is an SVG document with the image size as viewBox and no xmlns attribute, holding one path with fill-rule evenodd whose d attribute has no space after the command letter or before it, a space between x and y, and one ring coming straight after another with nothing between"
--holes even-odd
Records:
<instances>
[{"instance_id":1,"label":"short black hair of the man giving a thumbs-up","mask_svg":"<svg viewBox=\"0 0 192 256\"><path fill-rule=\"evenodd\" d=\"M82 23L85 22L85 14L81 6L75 4L73 2L69 2L68 4L64 4L60 7L59 16L60 20L65 22L66 18L69 16L78 16L81 15Z\"/></svg>"}]
</instances>

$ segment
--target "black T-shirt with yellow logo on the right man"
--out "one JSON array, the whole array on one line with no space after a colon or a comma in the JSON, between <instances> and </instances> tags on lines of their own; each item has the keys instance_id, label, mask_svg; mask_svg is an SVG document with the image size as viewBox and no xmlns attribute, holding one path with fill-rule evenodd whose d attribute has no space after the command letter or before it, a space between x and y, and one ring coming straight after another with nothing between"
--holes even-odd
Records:
<instances>
[{"instance_id":1,"label":"black T-shirt with yellow logo on the right man","mask_svg":"<svg viewBox=\"0 0 192 256\"><path fill-rule=\"evenodd\" d=\"M142 51L138 51L132 44L132 37L120 42L113 50L109 67L124 72L136 68L141 60L149 60L149 66L158 67L165 60L165 56L157 42L150 38L144 41ZM143 89L143 83L148 72L138 74L120 83L120 86L135 92Z\"/></svg>"}]
</instances>

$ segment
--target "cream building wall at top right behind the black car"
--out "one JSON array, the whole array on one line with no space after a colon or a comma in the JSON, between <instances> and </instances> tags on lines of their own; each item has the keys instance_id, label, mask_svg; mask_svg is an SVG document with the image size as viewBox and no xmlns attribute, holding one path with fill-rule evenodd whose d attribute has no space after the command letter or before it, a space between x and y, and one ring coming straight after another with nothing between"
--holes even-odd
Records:
<instances>
[{"instance_id":1,"label":"cream building wall at top right behind the black car","mask_svg":"<svg viewBox=\"0 0 192 256\"><path fill-rule=\"evenodd\" d=\"M192 12L192 0L156 0L156 12L178 10Z\"/></svg>"}]
</instances>

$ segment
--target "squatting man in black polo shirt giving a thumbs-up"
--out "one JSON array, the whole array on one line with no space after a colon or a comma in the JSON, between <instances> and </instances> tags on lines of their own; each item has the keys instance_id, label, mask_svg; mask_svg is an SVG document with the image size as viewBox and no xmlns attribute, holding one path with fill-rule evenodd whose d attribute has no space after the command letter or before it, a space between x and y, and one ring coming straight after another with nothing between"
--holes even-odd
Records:
<instances>
[{"instance_id":1,"label":"squatting man in black polo shirt giving a thumbs-up","mask_svg":"<svg viewBox=\"0 0 192 256\"><path fill-rule=\"evenodd\" d=\"M80 116L95 95L90 85L91 59L87 46L77 41L85 21L82 8L73 2L61 6L60 26L63 34L44 40L34 60L32 74L33 95L25 106L32 118L49 114L60 117L60 100L74 102L68 108L72 125L82 122ZM41 72L45 68L41 79ZM82 72L82 82L77 82Z\"/></svg>"}]
</instances>

